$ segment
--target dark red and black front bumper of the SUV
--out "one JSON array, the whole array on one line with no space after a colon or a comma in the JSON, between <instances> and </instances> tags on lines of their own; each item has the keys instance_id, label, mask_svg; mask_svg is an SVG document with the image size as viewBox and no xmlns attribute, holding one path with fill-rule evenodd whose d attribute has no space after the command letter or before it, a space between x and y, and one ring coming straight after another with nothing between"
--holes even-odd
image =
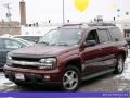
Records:
<instances>
[{"instance_id":1,"label":"dark red and black front bumper of the SUV","mask_svg":"<svg viewBox=\"0 0 130 98\"><path fill-rule=\"evenodd\" d=\"M21 69L21 68L12 68L4 65L3 68L5 77L12 82L25 82L25 83L36 83L36 84L44 84L44 83L61 83L62 82L62 72L58 69L55 70L30 70L30 69ZM17 79L16 74L23 74L24 79Z\"/></svg>"}]
</instances>

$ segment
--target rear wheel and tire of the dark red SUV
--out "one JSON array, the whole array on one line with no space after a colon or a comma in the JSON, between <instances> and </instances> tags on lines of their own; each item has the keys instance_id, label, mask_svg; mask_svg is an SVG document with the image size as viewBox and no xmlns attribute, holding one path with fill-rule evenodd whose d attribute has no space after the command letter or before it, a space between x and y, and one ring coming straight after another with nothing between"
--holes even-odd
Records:
<instances>
[{"instance_id":1,"label":"rear wheel and tire of the dark red SUV","mask_svg":"<svg viewBox=\"0 0 130 98\"><path fill-rule=\"evenodd\" d=\"M125 60L122 58L122 56L118 56L117 57L117 62L116 62L116 66L115 66L115 74L121 74L123 72L125 69Z\"/></svg>"}]
</instances>

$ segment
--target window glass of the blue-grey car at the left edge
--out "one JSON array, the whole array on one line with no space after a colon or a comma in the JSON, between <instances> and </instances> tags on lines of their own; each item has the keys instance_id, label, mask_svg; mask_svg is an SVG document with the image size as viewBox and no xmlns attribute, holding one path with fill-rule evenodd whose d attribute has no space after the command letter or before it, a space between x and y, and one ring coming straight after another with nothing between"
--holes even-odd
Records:
<instances>
[{"instance_id":1,"label":"window glass of the blue-grey car at the left edge","mask_svg":"<svg viewBox=\"0 0 130 98\"><path fill-rule=\"evenodd\" d=\"M10 40L10 39L4 39L4 46L6 49L22 48L22 44L15 41L15 40Z\"/></svg>"}]
</instances>

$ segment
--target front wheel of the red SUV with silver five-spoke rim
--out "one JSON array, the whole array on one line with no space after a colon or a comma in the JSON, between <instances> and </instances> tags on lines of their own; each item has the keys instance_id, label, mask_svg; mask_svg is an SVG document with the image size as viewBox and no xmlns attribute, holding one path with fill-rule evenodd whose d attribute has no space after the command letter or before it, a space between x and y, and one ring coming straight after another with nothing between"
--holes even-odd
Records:
<instances>
[{"instance_id":1,"label":"front wheel of the red SUV with silver five-spoke rim","mask_svg":"<svg viewBox=\"0 0 130 98\"><path fill-rule=\"evenodd\" d=\"M62 89L65 91L76 91L81 82L80 71L74 65L69 65L65 69L62 78Z\"/></svg>"}]
</instances>

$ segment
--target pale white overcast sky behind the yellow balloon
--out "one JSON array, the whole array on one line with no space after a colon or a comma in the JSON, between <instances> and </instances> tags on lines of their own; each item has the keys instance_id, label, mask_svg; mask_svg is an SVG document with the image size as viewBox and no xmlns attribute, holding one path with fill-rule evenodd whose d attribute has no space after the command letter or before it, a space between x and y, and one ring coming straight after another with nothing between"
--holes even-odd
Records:
<instances>
[{"instance_id":1,"label":"pale white overcast sky behind the yellow balloon","mask_svg":"<svg viewBox=\"0 0 130 98\"><path fill-rule=\"evenodd\" d=\"M21 0L0 0L0 21L6 21L6 8L4 3L10 3L12 20L20 21L20 1ZM27 23L48 22L62 23L63 0L24 0L26 2ZM87 22L96 15L103 15L105 21L112 21L113 17L123 19L125 13L130 12L130 0L90 0L88 8L80 12L76 9L75 0L65 1L65 22ZM120 9L120 12L117 12Z\"/></svg>"}]
</instances>

